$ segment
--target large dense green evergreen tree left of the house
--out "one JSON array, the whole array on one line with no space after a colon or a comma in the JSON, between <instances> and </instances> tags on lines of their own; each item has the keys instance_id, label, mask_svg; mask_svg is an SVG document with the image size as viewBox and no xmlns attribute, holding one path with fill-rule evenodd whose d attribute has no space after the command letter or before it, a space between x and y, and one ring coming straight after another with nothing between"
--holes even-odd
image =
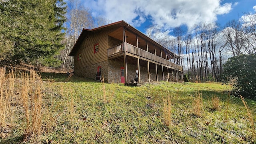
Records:
<instances>
[{"instance_id":1,"label":"large dense green evergreen tree left of the house","mask_svg":"<svg viewBox=\"0 0 256 144\"><path fill-rule=\"evenodd\" d=\"M53 56L64 48L60 43L66 21L63 0L7 0L0 5L0 34L11 44L8 58L17 63L60 64Z\"/></svg>"}]
</instances>

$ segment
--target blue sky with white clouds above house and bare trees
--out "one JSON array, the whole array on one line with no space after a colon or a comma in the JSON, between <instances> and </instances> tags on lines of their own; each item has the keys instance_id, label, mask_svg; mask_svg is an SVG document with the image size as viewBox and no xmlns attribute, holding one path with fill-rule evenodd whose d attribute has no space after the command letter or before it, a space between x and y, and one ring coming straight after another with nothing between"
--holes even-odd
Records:
<instances>
[{"instance_id":1,"label":"blue sky with white clouds above house and bare trees","mask_svg":"<svg viewBox=\"0 0 256 144\"><path fill-rule=\"evenodd\" d=\"M244 13L256 12L256 0L80 0L92 12L117 22L124 20L145 33L152 25L163 30L177 26L192 28L200 22L225 26Z\"/></svg>"}]
</instances>

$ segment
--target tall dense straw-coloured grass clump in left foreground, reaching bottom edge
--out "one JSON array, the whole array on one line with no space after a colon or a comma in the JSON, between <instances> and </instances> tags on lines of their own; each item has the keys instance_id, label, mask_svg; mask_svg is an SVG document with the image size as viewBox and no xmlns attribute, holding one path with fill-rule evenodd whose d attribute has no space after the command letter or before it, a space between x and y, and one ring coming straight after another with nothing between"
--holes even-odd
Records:
<instances>
[{"instance_id":1,"label":"tall dense straw-coloured grass clump in left foreground, reaching bottom edge","mask_svg":"<svg viewBox=\"0 0 256 144\"><path fill-rule=\"evenodd\" d=\"M24 141L34 141L42 133L42 87L42 79L36 71L31 69L29 73L23 73L21 98L26 116Z\"/></svg>"}]
</instances>

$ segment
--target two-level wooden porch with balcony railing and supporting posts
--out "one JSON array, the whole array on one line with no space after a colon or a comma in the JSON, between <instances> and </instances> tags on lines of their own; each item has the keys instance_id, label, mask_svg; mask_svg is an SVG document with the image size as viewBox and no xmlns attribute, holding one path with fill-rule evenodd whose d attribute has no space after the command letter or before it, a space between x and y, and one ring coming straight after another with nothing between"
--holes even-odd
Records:
<instances>
[{"instance_id":1,"label":"two-level wooden porch with balcony railing and supporting posts","mask_svg":"<svg viewBox=\"0 0 256 144\"><path fill-rule=\"evenodd\" d=\"M162 52L161 52L161 55ZM165 58L161 58L156 54L152 54L133 46L127 42L122 42L116 46L108 48L108 59L121 61L124 63L124 83L130 83L131 76L128 76L127 72L127 64L132 64L136 66L136 70L138 70L138 83L141 83L143 80L146 81L161 81L168 80L169 82L176 82L180 80L180 75L182 75L182 67L178 64L175 64L168 59L168 56ZM141 74L141 68L144 67L147 69L147 74ZM135 78L134 71L134 78ZM144 76L141 80L141 76ZM182 78L182 77L181 77Z\"/></svg>"}]
</instances>

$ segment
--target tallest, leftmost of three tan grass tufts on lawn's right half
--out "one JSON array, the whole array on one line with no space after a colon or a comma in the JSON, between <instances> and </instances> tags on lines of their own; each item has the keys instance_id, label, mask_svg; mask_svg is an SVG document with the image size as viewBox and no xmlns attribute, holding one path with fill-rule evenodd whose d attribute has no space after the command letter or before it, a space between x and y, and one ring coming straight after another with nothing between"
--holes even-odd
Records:
<instances>
[{"instance_id":1,"label":"tallest, leftmost of three tan grass tufts on lawn's right half","mask_svg":"<svg viewBox=\"0 0 256 144\"><path fill-rule=\"evenodd\" d=\"M166 94L166 98L164 98L162 94L162 100L164 103L164 108L163 108L164 124L166 126L171 126L172 125L172 97L168 93Z\"/></svg>"}]
</instances>

